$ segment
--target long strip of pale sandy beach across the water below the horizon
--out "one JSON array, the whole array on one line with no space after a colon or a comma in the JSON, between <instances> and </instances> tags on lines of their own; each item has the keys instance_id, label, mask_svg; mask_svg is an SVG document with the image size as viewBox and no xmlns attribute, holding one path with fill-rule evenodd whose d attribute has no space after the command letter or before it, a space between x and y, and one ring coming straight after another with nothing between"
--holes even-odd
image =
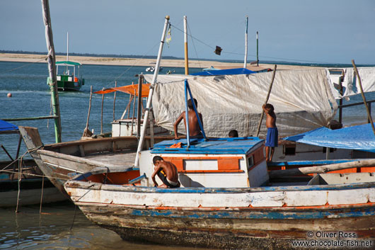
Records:
<instances>
[{"instance_id":1,"label":"long strip of pale sandy beach across the water below the horizon","mask_svg":"<svg viewBox=\"0 0 375 250\"><path fill-rule=\"evenodd\" d=\"M0 53L0 61L3 62L45 62L47 55L33 55L33 54L11 54L11 53ZM56 61L64 61L65 56L57 56ZM148 67L151 63L155 63L156 59L144 59L144 58L118 58L118 57L79 57L69 56L70 61L81 62L81 64L100 64L100 65L120 65L120 66L144 66ZM185 67L183 59L161 59L161 67ZM204 61L204 60L189 60L189 67L194 68L209 68L216 67L218 69L226 68L239 68L243 67L243 63L231 63L231 62L216 62L216 61ZM256 65L248 64L248 69L260 70L275 67L275 64L259 64ZM296 66L296 65L285 65L277 64L277 70L287 69L319 69L320 67L308 67L308 66Z\"/></svg>"}]
</instances>

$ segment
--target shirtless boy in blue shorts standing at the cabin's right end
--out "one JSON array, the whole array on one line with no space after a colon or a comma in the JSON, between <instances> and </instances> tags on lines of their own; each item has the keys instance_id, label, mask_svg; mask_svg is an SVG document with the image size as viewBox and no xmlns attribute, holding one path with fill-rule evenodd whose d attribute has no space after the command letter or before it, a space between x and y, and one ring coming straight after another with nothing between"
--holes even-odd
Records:
<instances>
[{"instance_id":1,"label":"shirtless boy in blue shorts standing at the cabin's right end","mask_svg":"<svg viewBox=\"0 0 375 250\"><path fill-rule=\"evenodd\" d=\"M263 104L262 109L265 111L265 114L267 115L267 118L265 120L265 125L267 127L267 138L265 140L265 156L266 161L270 162L272 161L273 153L275 152L275 147L277 147L279 132L277 131L276 115L272 104Z\"/></svg>"}]
</instances>

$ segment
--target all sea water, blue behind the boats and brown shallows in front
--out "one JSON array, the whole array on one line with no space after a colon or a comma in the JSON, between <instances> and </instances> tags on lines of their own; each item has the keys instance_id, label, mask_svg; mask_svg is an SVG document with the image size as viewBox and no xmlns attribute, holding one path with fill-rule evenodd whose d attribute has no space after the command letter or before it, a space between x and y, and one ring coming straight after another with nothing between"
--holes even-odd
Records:
<instances>
[{"instance_id":1,"label":"all sea water, blue behind the boats and brown shallows in front","mask_svg":"<svg viewBox=\"0 0 375 250\"><path fill-rule=\"evenodd\" d=\"M62 115L62 141L79 140L86 127L90 86L93 91L102 88L123 86L137 83L135 74L144 72L145 67L84 65L85 85L79 92L59 92L60 112ZM183 68L164 68L183 74ZM190 69L199 72L201 69ZM163 72L161 72L163 74ZM46 84L47 64L30 64L21 62L0 62L0 119L27 118L46 116L51 113L50 89ZM164 73L165 74L165 73ZM13 97L7 98L6 94ZM366 95L367 100L374 100L375 94ZM129 96L117 93L115 118L120 118L127 106ZM93 94L90 129L100 132L100 112L102 96ZM362 101L361 96L354 96L344 104ZM343 123L365 123L367 120L364 106L345 109ZM375 115L375 108L372 109ZM105 95L103 113L103 132L111 130L113 120L113 94ZM52 120L25 120L11 122L15 125L32 126L39 129L44 144L54 143L54 125ZM0 144L12 157L16 155L17 135L0 135ZM20 154L26 152L21 147ZM30 157L28 157L30 158ZM0 161L8 160L6 153L0 149ZM74 205L60 203L44 205L42 215L39 206L20 209L16 214L14 208L0 209L0 249L190 249L156 245L131 244L122 241L115 232L97 227L84 217ZM74 214L76 214L74 220ZM74 224L73 224L74 220ZM73 227L71 227L73 225Z\"/></svg>"}]
</instances>

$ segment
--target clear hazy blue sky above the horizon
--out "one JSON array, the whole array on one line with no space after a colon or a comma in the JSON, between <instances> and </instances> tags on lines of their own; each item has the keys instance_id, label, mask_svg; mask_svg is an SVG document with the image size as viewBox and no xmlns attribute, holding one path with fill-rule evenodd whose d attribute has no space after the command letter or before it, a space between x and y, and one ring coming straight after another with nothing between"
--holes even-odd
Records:
<instances>
[{"instance_id":1,"label":"clear hazy blue sky above the horizon","mask_svg":"<svg viewBox=\"0 0 375 250\"><path fill-rule=\"evenodd\" d=\"M375 64L374 0L50 0L54 49L114 55L158 54L165 16L171 42L164 56L248 61ZM214 54L220 46L221 55ZM0 50L47 52L40 0L0 1Z\"/></svg>"}]
</instances>

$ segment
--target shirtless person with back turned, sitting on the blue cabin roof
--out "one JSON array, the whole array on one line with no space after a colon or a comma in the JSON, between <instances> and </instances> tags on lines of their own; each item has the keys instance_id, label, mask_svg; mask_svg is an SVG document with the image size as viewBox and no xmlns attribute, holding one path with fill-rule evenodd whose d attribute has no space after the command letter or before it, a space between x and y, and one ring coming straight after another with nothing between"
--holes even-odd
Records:
<instances>
[{"instance_id":1,"label":"shirtless person with back turned, sitting on the blue cabin roof","mask_svg":"<svg viewBox=\"0 0 375 250\"><path fill-rule=\"evenodd\" d=\"M195 107L197 108L198 107L198 102L195 98L193 98L194 100L194 103L195 103ZM203 138L203 134L202 134L202 131L200 130L200 124L198 123L198 118L197 118L197 115L195 115L195 110L194 110L194 107L192 106L192 99L189 99L188 100L188 116L189 116L189 135L190 135L190 139L194 139L194 138ZM200 116L200 121L202 122L202 126L203 126L203 120L202 120L202 114L201 113L198 113L198 115ZM178 137L178 125L180 124L181 120L184 121L185 123L185 128L186 128L186 114L185 114L185 111L183 111L183 113L180 114L180 116L178 116L177 120L175 120L175 123L173 123L173 127L175 128L175 139L180 139Z\"/></svg>"}]
</instances>

